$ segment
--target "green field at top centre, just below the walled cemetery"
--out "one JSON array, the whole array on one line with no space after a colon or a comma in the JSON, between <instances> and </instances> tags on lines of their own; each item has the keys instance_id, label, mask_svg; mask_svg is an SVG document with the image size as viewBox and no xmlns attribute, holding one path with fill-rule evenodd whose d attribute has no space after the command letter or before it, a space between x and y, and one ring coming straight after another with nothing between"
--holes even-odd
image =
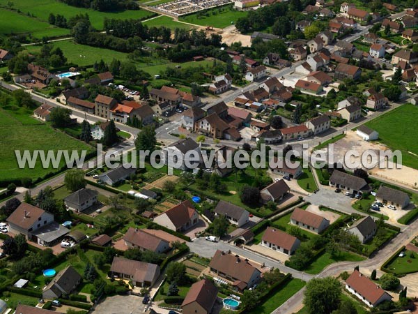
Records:
<instances>
[{"instance_id":1,"label":"green field at top centre, just below the walled cemetery","mask_svg":"<svg viewBox=\"0 0 418 314\"><path fill-rule=\"evenodd\" d=\"M240 17L247 16L247 12L233 10L232 6L212 8L201 13L194 13L180 17L180 20L202 26L212 26L219 29L235 24Z\"/></svg>"}]
</instances>

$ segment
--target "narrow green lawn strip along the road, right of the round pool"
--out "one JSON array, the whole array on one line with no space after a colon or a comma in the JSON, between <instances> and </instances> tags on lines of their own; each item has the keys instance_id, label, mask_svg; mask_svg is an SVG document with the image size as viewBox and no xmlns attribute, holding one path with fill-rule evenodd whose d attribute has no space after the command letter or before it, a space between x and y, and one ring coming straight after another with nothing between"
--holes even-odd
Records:
<instances>
[{"instance_id":1,"label":"narrow green lawn strip along the road, right of the round pool","mask_svg":"<svg viewBox=\"0 0 418 314\"><path fill-rule=\"evenodd\" d=\"M286 283L280 290L275 292L263 304L254 308L254 310L247 312L247 314L270 314L276 308L284 304L296 292L302 289L306 283L300 279L293 278Z\"/></svg>"}]
</instances>

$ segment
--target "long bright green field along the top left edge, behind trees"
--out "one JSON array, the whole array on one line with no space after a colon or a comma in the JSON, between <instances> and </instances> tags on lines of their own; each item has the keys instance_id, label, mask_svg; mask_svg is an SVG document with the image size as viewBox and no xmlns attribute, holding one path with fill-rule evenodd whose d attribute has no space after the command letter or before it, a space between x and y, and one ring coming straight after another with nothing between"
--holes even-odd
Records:
<instances>
[{"instance_id":1,"label":"long bright green field along the top left edge, behind trees","mask_svg":"<svg viewBox=\"0 0 418 314\"><path fill-rule=\"evenodd\" d=\"M0 0L1 6L6 6L8 0ZM13 0L13 8L21 10L24 14L30 12L39 20L48 22L49 13L64 15L67 20L77 14L88 14L91 24L95 29L103 29L104 17L109 19L146 19L153 13L147 10L125 10L123 12L99 12L87 8L77 8L68 6L65 3L56 0ZM13 22L13 20L12 20ZM14 22L13 22L14 23ZM18 23L15 23L18 24ZM49 25L49 24L48 24Z\"/></svg>"}]
</instances>

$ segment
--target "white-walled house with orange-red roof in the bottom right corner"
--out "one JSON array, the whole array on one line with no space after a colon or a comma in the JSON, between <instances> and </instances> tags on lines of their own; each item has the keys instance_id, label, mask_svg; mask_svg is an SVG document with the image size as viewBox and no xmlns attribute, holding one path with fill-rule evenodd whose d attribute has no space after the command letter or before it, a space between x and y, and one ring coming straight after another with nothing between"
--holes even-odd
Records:
<instances>
[{"instance_id":1,"label":"white-walled house with orange-red roof in the bottom right corner","mask_svg":"<svg viewBox=\"0 0 418 314\"><path fill-rule=\"evenodd\" d=\"M391 301L392 296L357 269L346 280L346 290L373 308L383 301Z\"/></svg>"}]
</instances>

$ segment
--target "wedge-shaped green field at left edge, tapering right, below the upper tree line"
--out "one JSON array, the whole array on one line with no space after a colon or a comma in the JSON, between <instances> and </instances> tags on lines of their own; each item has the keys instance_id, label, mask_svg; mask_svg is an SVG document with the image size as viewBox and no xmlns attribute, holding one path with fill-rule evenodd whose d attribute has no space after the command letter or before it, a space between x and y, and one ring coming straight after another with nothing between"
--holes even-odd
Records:
<instances>
[{"instance_id":1,"label":"wedge-shaped green field at left edge, tapering right, below the upper tree line","mask_svg":"<svg viewBox=\"0 0 418 314\"><path fill-rule=\"evenodd\" d=\"M31 33L33 37L42 38L68 35L70 30L60 29L32 17L0 8L0 34L10 33Z\"/></svg>"}]
</instances>

